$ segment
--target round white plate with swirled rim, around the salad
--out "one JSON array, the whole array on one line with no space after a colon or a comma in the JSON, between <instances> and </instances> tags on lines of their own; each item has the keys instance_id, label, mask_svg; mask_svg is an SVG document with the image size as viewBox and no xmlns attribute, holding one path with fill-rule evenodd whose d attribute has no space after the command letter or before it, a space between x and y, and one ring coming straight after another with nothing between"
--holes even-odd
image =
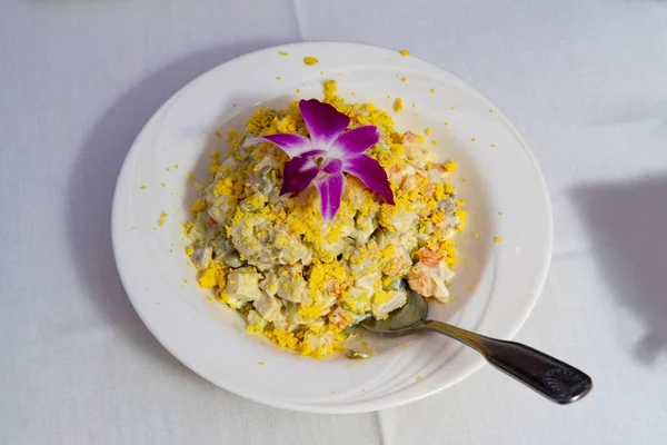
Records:
<instances>
[{"instance_id":1,"label":"round white plate with swirled rim, around the salad","mask_svg":"<svg viewBox=\"0 0 667 445\"><path fill-rule=\"evenodd\" d=\"M319 63L306 66L306 56ZM347 99L388 110L401 97L405 109L392 112L397 129L431 128L427 140L438 141L432 146L438 159L458 160L455 185L468 202L469 224L457 236L460 265L451 289L457 300L431 305L430 315L512 337L532 309L549 265L552 228L545 181L526 142L494 105L455 76L398 51L289 44L231 60L190 82L149 120L125 161L113 201L113 250L143 323L203 378L278 407L369 412L445 389L484 360L454 340L428 334L391 340L369 336L378 353L367 360L316 360L251 338L237 313L197 286L182 239L182 222L196 199L188 172L205 177L208 155L225 150L225 137L216 131L242 129L259 105L286 107L299 98L321 98L326 79L336 79ZM162 211L168 216L160 227ZM495 237L502 241L494 243Z\"/></svg>"}]
</instances>

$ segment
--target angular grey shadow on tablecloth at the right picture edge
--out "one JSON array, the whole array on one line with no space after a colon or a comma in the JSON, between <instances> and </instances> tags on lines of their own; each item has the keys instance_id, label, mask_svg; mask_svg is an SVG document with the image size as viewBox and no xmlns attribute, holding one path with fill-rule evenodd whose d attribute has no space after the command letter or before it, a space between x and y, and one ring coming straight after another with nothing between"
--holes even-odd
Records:
<instances>
[{"instance_id":1,"label":"angular grey shadow on tablecloth at the right picture edge","mask_svg":"<svg viewBox=\"0 0 667 445\"><path fill-rule=\"evenodd\" d=\"M573 197L610 291L646 326L634 355L651 364L667 349L667 176L583 186Z\"/></svg>"}]
</instances>

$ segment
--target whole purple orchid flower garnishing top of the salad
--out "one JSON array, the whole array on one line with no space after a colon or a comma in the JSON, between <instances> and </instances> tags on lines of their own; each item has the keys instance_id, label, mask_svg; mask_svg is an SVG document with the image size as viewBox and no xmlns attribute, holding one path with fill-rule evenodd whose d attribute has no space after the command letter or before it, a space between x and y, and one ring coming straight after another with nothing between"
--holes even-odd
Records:
<instances>
[{"instance_id":1,"label":"whole purple orchid flower garnishing top of the salad","mask_svg":"<svg viewBox=\"0 0 667 445\"><path fill-rule=\"evenodd\" d=\"M372 191L394 205L394 192L380 164L364 155L380 139L375 126L345 131L350 118L317 99L301 100L299 110L310 139L293 134L278 134L247 139L243 147L271 142L290 157L282 170L280 195L298 194L315 181L320 192L321 212L326 221L340 208L342 172L361 180Z\"/></svg>"}]
</instances>

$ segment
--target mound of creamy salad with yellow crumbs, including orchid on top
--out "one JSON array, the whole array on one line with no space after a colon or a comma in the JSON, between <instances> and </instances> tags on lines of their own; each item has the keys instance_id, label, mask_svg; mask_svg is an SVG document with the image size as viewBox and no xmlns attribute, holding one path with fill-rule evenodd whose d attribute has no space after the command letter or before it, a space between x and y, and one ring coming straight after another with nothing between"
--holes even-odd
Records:
<instances>
[{"instance_id":1,"label":"mound of creamy salad with yellow crumbs, including orchid on top","mask_svg":"<svg viewBox=\"0 0 667 445\"><path fill-rule=\"evenodd\" d=\"M187 254L249 332L321 358L405 305L406 283L448 301L466 214L456 162L436 164L421 136L327 81L323 101L259 108L227 144L195 181Z\"/></svg>"}]
</instances>

